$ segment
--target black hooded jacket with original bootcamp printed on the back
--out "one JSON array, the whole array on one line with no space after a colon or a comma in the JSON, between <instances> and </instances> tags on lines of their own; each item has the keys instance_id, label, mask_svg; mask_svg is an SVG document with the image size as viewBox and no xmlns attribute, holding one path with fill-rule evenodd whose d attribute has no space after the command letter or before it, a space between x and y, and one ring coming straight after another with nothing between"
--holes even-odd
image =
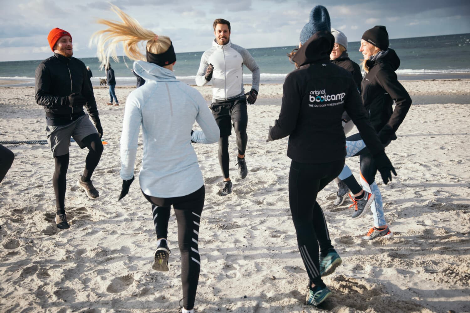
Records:
<instances>
[{"instance_id":1,"label":"black hooded jacket with original bootcamp printed on the back","mask_svg":"<svg viewBox=\"0 0 470 313\"><path fill-rule=\"evenodd\" d=\"M283 85L279 119L272 139L289 136L287 156L302 163L328 163L346 155L341 115L346 111L373 156L384 152L368 120L351 73L329 61L334 37L319 31L293 57L299 69Z\"/></svg>"}]
</instances>

